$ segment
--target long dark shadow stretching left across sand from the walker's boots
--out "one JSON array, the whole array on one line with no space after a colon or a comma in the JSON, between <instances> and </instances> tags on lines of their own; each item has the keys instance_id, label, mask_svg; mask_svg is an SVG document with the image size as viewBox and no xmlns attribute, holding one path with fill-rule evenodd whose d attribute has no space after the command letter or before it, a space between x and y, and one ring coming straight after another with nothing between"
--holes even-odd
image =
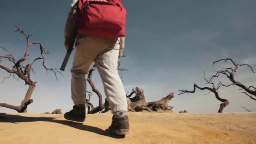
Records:
<instances>
[{"instance_id":1,"label":"long dark shadow stretching left across sand from the walker's boots","mask_svg":"<svg viewBox=\"0 0 256 144\"><path fill-rule=\"evenodd\" d=\"M92 133L97 133L102 136L109 136L115 139L122 139L125 138L123 135L112 135L110 133L107 133L106 131L96 128L93 126L89 125L84 125L83 123L76 123L73 121L68 121L68 120L56 120L57 117L24 117L21 115L8 115L6 113L0 113L0 123L21 123L21 122L38 122L38 121L43 121L43 122L52 122L52 123L59 123L62 125L67 125L72 128L77 128L82 131L89 131Z\"/></svg>"}]
</instances>

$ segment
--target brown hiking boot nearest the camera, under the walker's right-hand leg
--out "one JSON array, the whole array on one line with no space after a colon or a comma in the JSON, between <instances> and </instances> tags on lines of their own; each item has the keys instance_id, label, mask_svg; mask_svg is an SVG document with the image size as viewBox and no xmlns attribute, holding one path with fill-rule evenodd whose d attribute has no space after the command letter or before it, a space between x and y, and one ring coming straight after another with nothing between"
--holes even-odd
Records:
<instances>
[{"instance_id":1,"label":"brown hiking boot nearest the camera, under the walker's right-hand leg","mask_svg":"<svg viewBox=\"0 0 256 144\"><path fill-rule=\"evenodd\" d=\"M114 133L117 135L125 135L130 133L129 129L129 119L126 115L125 117L118 117L113 115L112 123L106 131Z\"/></svg>"}]
</instances>

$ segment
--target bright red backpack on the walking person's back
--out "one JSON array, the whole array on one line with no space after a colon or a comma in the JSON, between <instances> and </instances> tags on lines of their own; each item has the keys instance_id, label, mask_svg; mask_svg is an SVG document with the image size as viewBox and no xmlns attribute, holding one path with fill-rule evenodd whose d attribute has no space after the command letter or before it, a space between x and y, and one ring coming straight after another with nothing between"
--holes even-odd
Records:
<instances>
[{"instance_id":1,"label":"bright red backpack on the walking person's back","mask_svg":"<svg viewBox=\"0 0 256 144\"><path fill-rule=\"evenodd\" d=\"M126 10L121 0L78 0L77 30L89 37L125 37Z\"/></svg>"}]
</instances>

